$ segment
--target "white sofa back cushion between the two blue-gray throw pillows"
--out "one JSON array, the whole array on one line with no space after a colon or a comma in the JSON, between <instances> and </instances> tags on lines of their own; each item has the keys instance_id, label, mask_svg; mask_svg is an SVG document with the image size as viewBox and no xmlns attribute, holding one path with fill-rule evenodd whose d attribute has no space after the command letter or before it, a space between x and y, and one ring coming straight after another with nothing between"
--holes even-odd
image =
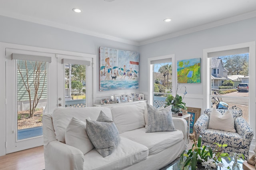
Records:
<instances>
[{"instance_id":1,"label":"white sofa back cushion between the two blue-gray throw pillows","mask_svg":"<svg viewBox=\"0 0 256 170\"><path fill-rule=\"evenodd\" d=\"M111 108L113 121L119 133L145 127L144 110L146 103L122 105Z\"/></svg>"}]
</instances>

